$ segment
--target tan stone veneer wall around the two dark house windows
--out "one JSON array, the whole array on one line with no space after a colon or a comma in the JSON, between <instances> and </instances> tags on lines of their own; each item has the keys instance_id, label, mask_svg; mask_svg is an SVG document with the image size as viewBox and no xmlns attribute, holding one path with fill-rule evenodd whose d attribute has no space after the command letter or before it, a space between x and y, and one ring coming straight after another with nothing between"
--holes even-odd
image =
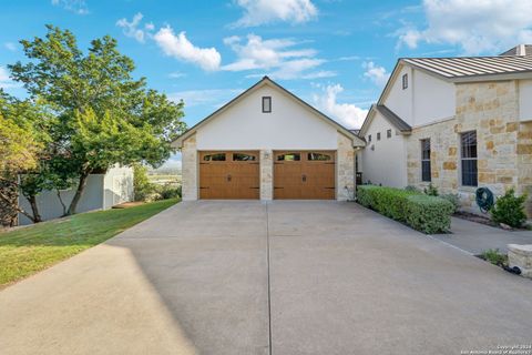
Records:
<instances>
[{"instance_id":1,"label":"tan stone veneer wall around the two dark house windows","mask_svg":"<svg viewBox=\"0 0 532 355\"><path fill-rule=\"evenodd\" d=\"M532 186L532 125L518 122L515 81L457 84L457 113L447 121L412 129L407 139L408 184L421 182L420 140L430 138L432 184L442 193L459 193L462 207L479 212L477 187L460 185L460 133L477 131L479 186L495 194ZM529 201L529 213L531 212Z\"/></svg>"}]
</instances>

